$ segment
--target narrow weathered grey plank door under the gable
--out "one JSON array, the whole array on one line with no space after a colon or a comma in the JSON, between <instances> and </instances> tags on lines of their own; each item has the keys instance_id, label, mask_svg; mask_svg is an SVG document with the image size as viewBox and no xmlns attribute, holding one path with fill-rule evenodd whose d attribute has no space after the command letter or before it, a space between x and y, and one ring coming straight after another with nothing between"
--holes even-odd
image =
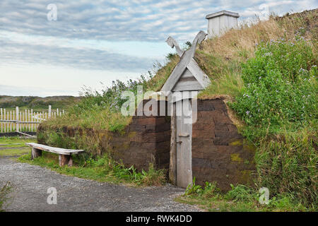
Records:
<instances>
[{"instance_id":1,"label":"narrow weathered grey plank door under the gable","mask_svg":"<svg viewBox=\"0 0 318 226\"><path fill-rule=\"evenodd\" d=\"M192 184L192 106L191 100L176 102L177 186ZM181 113L181 114L180 114Z\"/></svg>"}]
</instances>

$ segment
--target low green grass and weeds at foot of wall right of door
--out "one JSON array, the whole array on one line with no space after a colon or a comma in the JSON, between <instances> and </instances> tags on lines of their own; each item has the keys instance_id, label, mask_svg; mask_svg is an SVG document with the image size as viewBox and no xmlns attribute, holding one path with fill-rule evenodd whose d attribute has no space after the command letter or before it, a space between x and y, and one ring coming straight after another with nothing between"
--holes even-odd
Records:
<instances>
[{"instance_id":1,"label":"low green grass and weeds at foot of wall right of door","mask_svg":"<svg viewBox=\"0 0 318 226\"><path fill-rule=\"evenodd\" d=\"M306 207L295 202L290 194L272 196L269 203L259 203L259 192L244 185L232 186L232 190L221 193L216 183L189 186L184 195L175 198L179 203L195 205L209 212L299 212L317 211L317 207Z\"/></svg>"}]
</instances>

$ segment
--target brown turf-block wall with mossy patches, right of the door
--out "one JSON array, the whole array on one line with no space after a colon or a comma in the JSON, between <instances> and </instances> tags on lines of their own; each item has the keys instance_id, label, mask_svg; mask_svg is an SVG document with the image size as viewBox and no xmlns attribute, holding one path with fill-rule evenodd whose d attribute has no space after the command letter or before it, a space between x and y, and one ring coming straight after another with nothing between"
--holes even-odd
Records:
<instances>
[{"instance_id":1,"label":"brown turf-block wall with mossy patches, right of the door","mask_svg":"<svg viewBox=\"0 0 318 226\"><path fill-rule=\"evenodd\" d=\"M230 184L249 184L254 173L254 148L238 133L222 99L198 100L192 128L192 175L196 184L216 181L223 191Z\"/></svg>"}]
</instances>

